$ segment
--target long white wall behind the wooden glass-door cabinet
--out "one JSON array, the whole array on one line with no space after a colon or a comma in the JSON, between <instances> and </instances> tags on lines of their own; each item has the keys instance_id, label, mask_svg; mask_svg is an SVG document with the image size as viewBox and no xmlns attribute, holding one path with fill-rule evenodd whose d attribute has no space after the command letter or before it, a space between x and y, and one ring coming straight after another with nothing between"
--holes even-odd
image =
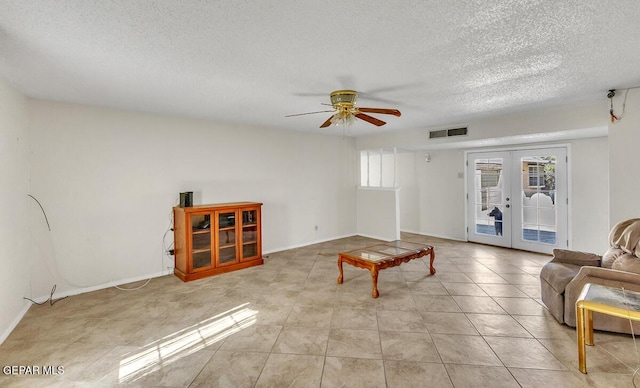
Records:
<instances>
[{"instance_id":1,"label":"long white wall behind the wooden glass-door cabinet","mask_svg":"<svg viewBox=\"0 0 640 388\"><path fill-rule=\"evenodd\" d=\"M265 252L355 234L351 139L39 100L29 119L32 192L51 223L35 228L36 295L166 273L182 191L263 202Z\"/></svg>"}]
</instances>

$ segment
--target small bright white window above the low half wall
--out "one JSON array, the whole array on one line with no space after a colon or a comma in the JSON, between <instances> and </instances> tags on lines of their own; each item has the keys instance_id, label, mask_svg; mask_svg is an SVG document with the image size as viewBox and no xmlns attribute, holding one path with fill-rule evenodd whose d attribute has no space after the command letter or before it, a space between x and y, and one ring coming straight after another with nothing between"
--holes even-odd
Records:
<instances>
[{"instance_id":1,"label":"small bright white window above the low half wall","mask_svg":"<svg viewBox=\"0 0 640 388\"><path fill-rule=\"evenodd\" d=\"M360 185L396 187L396 150L360 151Z\"/></svg>"}]
</instances>

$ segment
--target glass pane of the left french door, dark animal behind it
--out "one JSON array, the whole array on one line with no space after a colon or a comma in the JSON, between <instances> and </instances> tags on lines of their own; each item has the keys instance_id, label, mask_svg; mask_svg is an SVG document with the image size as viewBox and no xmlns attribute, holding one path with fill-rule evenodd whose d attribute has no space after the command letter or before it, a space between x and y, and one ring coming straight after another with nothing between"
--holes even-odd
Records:
<instances>
[{"instance_id":1,"label":"glass pane of the left french door, dark animal behind it","mask_svg":"<svg viewBox=\"0 0 640 388\"><path fill-rule=\"evenodd\" d=\"M476 233L502 236L503 159L476 159L474 163Z\"/></svg>"}]
</instances>

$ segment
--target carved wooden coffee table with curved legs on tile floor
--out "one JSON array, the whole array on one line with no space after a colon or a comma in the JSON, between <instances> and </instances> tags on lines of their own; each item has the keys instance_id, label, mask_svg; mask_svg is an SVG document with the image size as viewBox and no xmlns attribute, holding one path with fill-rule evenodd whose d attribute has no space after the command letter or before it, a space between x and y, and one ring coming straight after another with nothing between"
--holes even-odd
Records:
<instances>
[{"instance_id":1,"label":"carved wooden coffee table with curved legs on tile floor","mask_svg":"<svg viewBox=\"0 0 640 388\"><path fill-rule=\"evenodd\" d=\"M338 284L342 284L344 281L342 263L368 269L371 272L371 280L373 281L373 291L371 295L377 298L380 295L378 292L378 272L380 270L397 267L402 263L407 263L426 255L430 255L429 271L431 275L433 275L436 273L436 269L433 268L435 252L431 245L396 240L355 249L353 251L341 252L338 254L338 269L340 269Z\"/></svg>"}]
</instances>

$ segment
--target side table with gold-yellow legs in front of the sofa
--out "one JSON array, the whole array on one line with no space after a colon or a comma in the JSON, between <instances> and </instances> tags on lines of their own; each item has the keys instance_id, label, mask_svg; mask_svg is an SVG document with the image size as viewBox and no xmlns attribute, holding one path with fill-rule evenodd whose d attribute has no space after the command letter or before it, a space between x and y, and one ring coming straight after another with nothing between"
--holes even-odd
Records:
<instances>
[{"instance_id":1,"label":"side table with gold-yellow legs in front of the sofa","mask_svg":"<svg viewBox=\"0 0 640 388\"><path fill-rule=\"evenodd\" d=\"M593 343L593 312L640 321L640 292L587 283L576 301L578 369L587 373L585 345Z\"/></svg>"}]
</instances>

